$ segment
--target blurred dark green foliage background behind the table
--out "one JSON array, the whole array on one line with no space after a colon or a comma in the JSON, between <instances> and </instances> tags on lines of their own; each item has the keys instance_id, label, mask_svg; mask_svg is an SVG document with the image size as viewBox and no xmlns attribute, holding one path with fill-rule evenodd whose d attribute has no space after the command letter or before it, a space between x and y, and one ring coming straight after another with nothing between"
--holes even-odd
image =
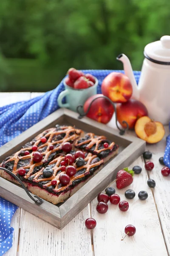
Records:
<instances>
[{"instance_id":1,"label":"blurred dark green foliage background behind the table","mask_svg":"<svg viewBox=\"0 0 170 256\"><path fill-rule=\"evenodd\" d=\"M54 89L70 67L141 70L144 46L170 33L170 0L4 0L0 91Z\"/></svg>"}]
</instances>

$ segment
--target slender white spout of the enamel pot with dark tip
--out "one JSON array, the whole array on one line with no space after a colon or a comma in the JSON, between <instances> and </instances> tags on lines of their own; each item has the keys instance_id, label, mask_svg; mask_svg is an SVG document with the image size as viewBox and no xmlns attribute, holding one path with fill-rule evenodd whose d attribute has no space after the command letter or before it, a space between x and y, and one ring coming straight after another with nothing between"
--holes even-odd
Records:
<instances>
[{"instance_id":1,"label":"slender white spout of the enamel pot with dark tip","mask_svg":"<svg viewBox=\"0 0 170 256\"><path fill-rule=\"evenodd\" d=\"M132 87L133 87L133 94L132 94L132 98L139 100L139 89L138 86L136 84L136 79L135 76L133 74L133 70L132 70L132 66L130 64L130 60L127 58L127 56L125 54L119 54L116 58L118 61L122 61L123 63L123 68L125 71L125 75L129 78Z\"/></svg>"}]
</instances>

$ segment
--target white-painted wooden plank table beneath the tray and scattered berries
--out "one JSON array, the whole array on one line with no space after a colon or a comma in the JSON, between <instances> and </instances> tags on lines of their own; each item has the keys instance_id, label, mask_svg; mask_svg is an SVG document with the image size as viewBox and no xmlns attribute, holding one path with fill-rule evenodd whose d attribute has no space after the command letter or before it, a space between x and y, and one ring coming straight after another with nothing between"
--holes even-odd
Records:
<instances>
[{"instance_id":1,"label":"white-painted wooden plank table beneath the tray and scattered berries","mask_svg":"<svg viewBox=\"0 0 170 256\"><path fill-rule=\"evenodd\" d=\"M0 93L0 106L26 100L40 93ZM113 122L108 125L113 126ZM169 133L165 127L166 135ZM134 132L129 132L135 136ZM166 137L156 145L147 145L153 153L155 167L152 172L144 169L144 160L139 157L130 167L139 165L142 173L135 175L130 186L136 192L133 200L125 198L127 188L118 190L121 200L129 201L129 210L121 212L118 206L109 204L106 214L96 212L96 198L70 221L62 230L42 221L22 209L15 212L11 226L14 241L6 256L167 256L170 255L170 177L161 175L159 157L163 156ZM148 178L156 181L155 189L147 186ZM113 187L116 188L115 183ZM140 201L138 193L148 193L146 201ZM90 231L85 228L85 219L95 218L97 226ZM136 227L133 237L124 236L127 224Z\"/></svg>"}]
</instances>

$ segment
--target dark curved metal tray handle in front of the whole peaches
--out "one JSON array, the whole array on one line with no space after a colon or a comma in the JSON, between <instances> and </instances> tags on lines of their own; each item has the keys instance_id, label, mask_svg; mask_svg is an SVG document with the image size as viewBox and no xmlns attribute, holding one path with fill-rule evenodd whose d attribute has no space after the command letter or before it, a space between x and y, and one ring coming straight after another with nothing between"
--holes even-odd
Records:
<instances>
[{"instance_id":1,"label":"dark curved metal tray handle in front of the whole peaches","mask_svg":"<svg viewBox=\"0 0 170 256\"><path fill-rule=\"evenodd\" d=\"M105 98L105 99L107 99L107 100L111 103L111 105L112 105L113 108L114 108L115 118L116 118L116 126L117 126L117 128L119 129L119 134L120 134L120 135L125 134L125 131L128 130L129 125L128 125L128 123L127 123L126 121L123 121L122 123L126 125L126 128L125 128L125 129L119 128L119 126L118 126L118 124L117 124L117 111L116 111L116 107L115 107L114 103L111 101L111 99L109 99L108 97L106 97L106 96L104 96L104 95L99 96L99 97L97 97L96 99L99 99L99 98ZM92 102L91 102L91 104L92 104L96 99L93 99ZM87 115L88 111L89 111L90 108L91 108L91 104L88 106L87 112L86 112L86 113L83 113L83 114L82 114L83 105L78 105L78 106L77 106L77 112L79 113L79 116L78 116L79 119L82 119L83 116L86 116L86 115Z\"/></svg>"}]
</instances>

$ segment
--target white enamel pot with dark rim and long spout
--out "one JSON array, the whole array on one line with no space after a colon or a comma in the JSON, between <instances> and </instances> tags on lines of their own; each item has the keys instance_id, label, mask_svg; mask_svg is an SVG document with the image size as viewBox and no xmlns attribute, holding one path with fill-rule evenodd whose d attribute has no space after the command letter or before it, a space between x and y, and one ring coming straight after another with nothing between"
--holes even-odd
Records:
<instances>
[{"instance_id":1,"label":"white enamel pot with dark rim and long spout","mask_svg":"<svg viewBox=\"0 0 170 256\"><path fill-rule=\"evenodd\" d=\"M132 66L126 55L120 54L125 75L133 86L133 99L141 101L149 117L167 125L170 122L170 36L147 44L144 48L142 72L137 86Z\"/></svg>"}]
</instances>

